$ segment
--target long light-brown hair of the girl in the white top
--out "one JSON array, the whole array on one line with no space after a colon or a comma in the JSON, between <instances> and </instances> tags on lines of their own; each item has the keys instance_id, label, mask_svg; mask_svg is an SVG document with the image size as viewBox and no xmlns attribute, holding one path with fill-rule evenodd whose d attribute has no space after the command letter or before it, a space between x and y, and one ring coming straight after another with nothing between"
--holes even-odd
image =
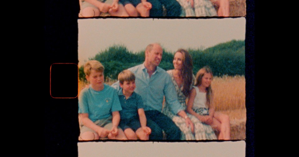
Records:
<instances>
[{"instance_id":1,"label":"long light-brown hair of the girl in the white top","mask_svg":"<svg viewBox=\"0 0 299 157\"><path fill-rule=\"evenodd\" d=\"M205 73L210 73L213 78L213 73L212 70L209 66L204 66L202 69L198 70L196 76L195 76L195 85L194 86L200 86L202 84L202 77ZM206 87L206 105L210 107L212 103L212 88L211 85L209 87Z\"/></svg>"}]
</instances>

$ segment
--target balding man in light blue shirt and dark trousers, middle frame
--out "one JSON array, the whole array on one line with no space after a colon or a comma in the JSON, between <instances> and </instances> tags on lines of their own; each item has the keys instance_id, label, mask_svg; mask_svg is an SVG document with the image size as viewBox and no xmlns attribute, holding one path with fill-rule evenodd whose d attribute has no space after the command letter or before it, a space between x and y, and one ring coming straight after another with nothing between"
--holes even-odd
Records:
<instances>
[{"instance_id":1,"label":"balding man in light blue shirt and dark trousers, middle frame","mask_svg":"<svg viewBox=\"0 0 299 157\"><path fill-rule=\"evenodd\" d=\"M162 130L164 130L166 139L179 140L181 137L180 129L170 118L161 113L164 96L171 105L171 111L185 118L187 126L191 126L192 130L194 126L178 101L169 74L158 67L162 59L162 53L162 47L158 43L150 44L145 49L145 62L128 70L135 74L135 92L142 97L145 104L147 126L152 130L150 139L162 140ZM114 83L112 87L119 89L119 82Z\"/></svg>"}]
</instances>

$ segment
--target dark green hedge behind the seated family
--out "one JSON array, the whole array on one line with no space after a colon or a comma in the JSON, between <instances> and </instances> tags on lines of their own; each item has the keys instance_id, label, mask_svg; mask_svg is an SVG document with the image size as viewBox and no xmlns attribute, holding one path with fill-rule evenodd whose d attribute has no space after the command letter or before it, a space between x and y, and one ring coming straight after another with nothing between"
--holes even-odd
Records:
<instances>
[{"instance_id":1,"label":"dark green hedge behind the seated family","mask_svg":"<svg viewBox=\"0 0 299 157\"><path fill-rule=\"evenodd\" d=\"M220 43L214 47L201 49L188 49L193 58L193 73L205 65L209 65L215 76L221 75L245 75L245 43L244 40L232 40L226 43ZM159 67L164 70L173 69L174 52L165 52ZM132 66L144 62L144 51L133 53L127 50L123 45L113 45L108 49L99 52L89 60L100 61L104 67L104 76L117 79L118 74ZM79 78L85 80L83 66L79 68Z\"/></svg>"}]
</instances>

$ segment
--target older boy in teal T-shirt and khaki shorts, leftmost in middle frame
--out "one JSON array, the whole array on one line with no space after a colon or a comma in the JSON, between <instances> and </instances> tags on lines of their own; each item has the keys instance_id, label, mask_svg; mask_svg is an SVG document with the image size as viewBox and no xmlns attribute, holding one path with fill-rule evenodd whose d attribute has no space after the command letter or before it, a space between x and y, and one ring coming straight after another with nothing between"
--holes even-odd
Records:
<instances>
[{"instance_id":1,"label":"older boy in teal T-shirt and khaki shorts, leftmost in middle frame","mask_svg":"<svg viewBox=\"0 0 299 157\"><path fill-rule=\"evenodd\" d=\"M121 105L114 88L104 83L104 66L98 61L88 61L84 65L89 88L79 94L79 140L109 139L125 140L118 129Z\"/></svg>"}]
</instances>

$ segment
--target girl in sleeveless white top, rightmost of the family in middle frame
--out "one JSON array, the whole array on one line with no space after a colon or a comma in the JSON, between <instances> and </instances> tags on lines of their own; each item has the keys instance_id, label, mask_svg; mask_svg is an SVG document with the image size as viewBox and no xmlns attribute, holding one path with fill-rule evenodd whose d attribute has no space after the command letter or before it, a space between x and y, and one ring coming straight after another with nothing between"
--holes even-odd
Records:
<instances>
[{"instance_id":1,"label":"girl in sleeveless white top, rightmost of the family in middle frame","mask_svg":"<svg viewBox=\"0 0 299 157\"><path fill-rule=\"evenodd\" d=\"M230 140L230 119L226 114L215 112L212 103L213 93L211 82L213 73L210 67L205 66L196 74L196 83L193 86L187 102L187 112L197 117L202 123L211 125L219 131L219 140Z\"/></svg>"}]
</instances>

